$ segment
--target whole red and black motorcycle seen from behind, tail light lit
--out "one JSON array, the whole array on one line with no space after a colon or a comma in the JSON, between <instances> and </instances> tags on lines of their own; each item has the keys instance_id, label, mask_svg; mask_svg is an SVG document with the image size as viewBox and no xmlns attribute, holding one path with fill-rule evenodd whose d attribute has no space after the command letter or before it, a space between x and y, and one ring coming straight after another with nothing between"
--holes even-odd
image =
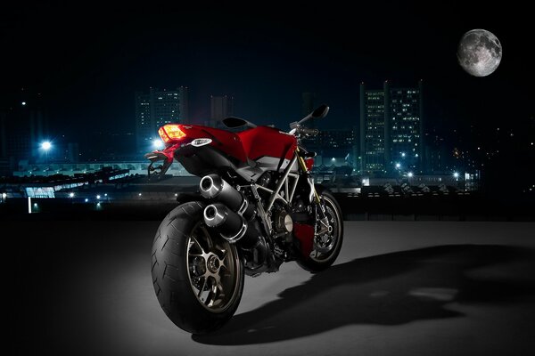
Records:
<instances>
[{"instance_id":1,"label":"whole red and black motorcycle seen from behind, tail light lit","mask_svg":"<svg viewBox=\"0 0 535 356\"><path fill-rule=\"evenodd\" d=\"M178 196L152 245L152 282L161 308L179 328L203 334L234 315L244 274L278 271L296 261L305 270L333 264L343 239L342 211L314 184L314 152L300 145L318 131L303 127L325 117L322 105L285 133L237 117L232 132L202 125L164 125L164 150L145 155L161 176L176 159L202 177L199 190ZM157 162L161 162L155 166Z\"/></svg>"}]
</instances>

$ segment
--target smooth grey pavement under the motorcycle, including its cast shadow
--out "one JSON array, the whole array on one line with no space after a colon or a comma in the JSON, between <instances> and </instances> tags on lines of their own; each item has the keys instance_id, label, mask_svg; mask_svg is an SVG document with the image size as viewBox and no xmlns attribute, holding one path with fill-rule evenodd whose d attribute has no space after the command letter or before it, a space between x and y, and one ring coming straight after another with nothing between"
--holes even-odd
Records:
<instances>
[{"instance_id":1,"label":"smooth grey pavement under the motorcycle, including its cast shadow","mask_svg":"<svg viewBox=\"0 0 535 356\"><path fill-rule=\"evenodd\" d=\"M7 354L535 350L535 223L346 222L330 270L310 275L287 263L247 278L235 318L202 337L175 327L154 296L158 222L1 223Z\"/></svg>"}]
</instances>

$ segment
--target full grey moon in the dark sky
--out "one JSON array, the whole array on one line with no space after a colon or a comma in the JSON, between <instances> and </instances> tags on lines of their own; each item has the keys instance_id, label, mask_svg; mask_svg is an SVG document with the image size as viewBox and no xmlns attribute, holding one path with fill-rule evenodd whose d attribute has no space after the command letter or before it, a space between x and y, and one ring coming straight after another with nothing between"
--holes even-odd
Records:
<instances>
[{"instance_id":1,"label":"full grey moon in the dark sky","mask_svg":"<svg viewBox=\"0 0 535 356\"><path fill-rule=\"evenodd\" d=\"M486 77L498 68L502 47L498 37L485 29L473 29L463 35L457 48L457 60L468 74Z\"/></svg>"}]
</instances>

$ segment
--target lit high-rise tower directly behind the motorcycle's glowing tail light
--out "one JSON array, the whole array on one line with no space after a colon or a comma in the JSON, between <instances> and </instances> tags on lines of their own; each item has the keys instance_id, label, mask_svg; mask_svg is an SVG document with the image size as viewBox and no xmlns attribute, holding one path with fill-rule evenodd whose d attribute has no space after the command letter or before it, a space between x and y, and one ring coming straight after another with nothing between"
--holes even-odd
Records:
<instances>
[{"instance_id":1,"label":"lit high-rise tower directly behind the motorcycle's glowing tail light","mask_svg":"<svg viewBox=\"0 0 535 356\"><path fill-rule=\"evenodd\" d=\"M174 91L151 88L149 93L136 92L136 143L138 152L152 150L158 129L188 119L187 87Z\"/></svg>"}]
</instances>

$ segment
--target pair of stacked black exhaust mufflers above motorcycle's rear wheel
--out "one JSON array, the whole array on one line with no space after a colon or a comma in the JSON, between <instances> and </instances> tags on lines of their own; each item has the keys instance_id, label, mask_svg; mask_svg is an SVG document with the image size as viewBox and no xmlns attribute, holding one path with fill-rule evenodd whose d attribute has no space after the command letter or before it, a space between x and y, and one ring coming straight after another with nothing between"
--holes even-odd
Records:
<instances>
[{"instance_id":1,"label":"pair of stacked black exhaust mufflers above motorcycle's rear wheel","mask_svg":"<svg viewBox=\"0 0 535 356\"><path fill-rule=\"evenodd\" d=\"M204 208L204 223L215 228L230 243L242 241L245 247L255 246L260 233L251 221L254 206L247 198L218 174L202 177L199 183L201 195L214 203Z\"/></svg>"}]
</instances>

